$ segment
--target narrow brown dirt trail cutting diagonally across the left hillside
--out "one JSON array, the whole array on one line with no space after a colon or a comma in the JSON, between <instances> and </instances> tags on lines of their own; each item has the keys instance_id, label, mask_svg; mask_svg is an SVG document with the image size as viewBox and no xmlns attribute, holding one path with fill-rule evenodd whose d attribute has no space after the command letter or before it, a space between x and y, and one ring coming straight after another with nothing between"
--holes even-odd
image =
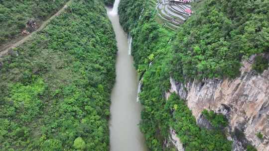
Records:
<instances>
[{"instance_id":1,"label":"narrow brown dirt trail cutting diagonally across the left hillside","mask_svg":"<svg viewBox=\"0 0 269 151\"><path fill-rule=\"evenodd\" d=\"M56 16L58 16L59 14L61 14L65 8L68 7L68 5L72 2L72 0L69 0L59 11L57 11L54 15L52 15L49 19L45 20L44 22L41 23L40 27L38 29L36 29L34 32L30 33L29 35L23 37L22 39L20 39L19 41L14 42L13 44L9 44L5 47L3 47L2 49L0 49L0 57L2 57L3 55L5 55L8 50L12 49L12 48L16 48L17 46L21 45L22 43L24 43L25 41L27 41L30 37L32 37L33 34L35 34L36 32L42 30L52 19L54 19Z\"/></svg>"}]
</instances>

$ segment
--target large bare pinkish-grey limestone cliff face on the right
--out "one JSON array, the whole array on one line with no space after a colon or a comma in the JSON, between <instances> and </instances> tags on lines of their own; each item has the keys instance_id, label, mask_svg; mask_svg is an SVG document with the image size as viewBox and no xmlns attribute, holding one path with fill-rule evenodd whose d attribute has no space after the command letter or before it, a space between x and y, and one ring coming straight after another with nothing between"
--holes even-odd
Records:
<instances>
[{"instance_id":1,"label":"large bare pinkish-grey limestone cliff face on the right","mask_svg":"<svg viewBox=\"0 0 269 151\"><path fill-rule=\"evenodd\" d=\"M241 75L235 79L194 80L187 84L174 81L171 92L187 100L188 107L199 119L203 109L211 109L229 119L228 139L233 140L233 151L243 151L242 141L231 137L236 130L245 134L246 141L258 151L269 151L269 70L256 75L251 67L255 56L243 62ZM256 134L261 132L263 139Z\"/></svg>"}]
</instances>

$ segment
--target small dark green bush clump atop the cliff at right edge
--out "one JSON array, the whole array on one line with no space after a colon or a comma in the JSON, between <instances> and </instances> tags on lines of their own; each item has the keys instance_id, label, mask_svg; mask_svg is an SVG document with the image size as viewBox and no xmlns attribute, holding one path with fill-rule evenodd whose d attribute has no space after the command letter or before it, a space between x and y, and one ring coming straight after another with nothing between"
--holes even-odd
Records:
<instances>
[{"instance_id":1,"label":"small dark green bush clump atop the cliff at right edge","mask_svg":"<svg viewBox=\"0 0 269 151\"><path fill-rule=\"evenodd\" d=\"M252 65L252 69L262 74L269 67L269 60L263 56L255 57L255 63Z\"/></svg>"}]
</instances>

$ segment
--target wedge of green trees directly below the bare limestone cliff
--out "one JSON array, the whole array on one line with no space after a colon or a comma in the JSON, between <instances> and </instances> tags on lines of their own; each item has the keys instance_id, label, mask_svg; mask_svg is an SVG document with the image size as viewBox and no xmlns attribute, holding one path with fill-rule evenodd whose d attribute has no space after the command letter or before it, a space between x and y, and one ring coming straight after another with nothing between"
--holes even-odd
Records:
<instances>
[{"instance_id":1,"label":"wedge of green trees directly below the bare limestone cliff","mask_svg":"<svg viewBox=\"0 0 269 151\"><path fill-rule=\"evenodd\" d=\"M200 129L184 100L173 93L165 104L166 111L174 111L169 125L174 128L185 151L231 151L232 144L221 131Z\"/></svg>"}]
</instances>

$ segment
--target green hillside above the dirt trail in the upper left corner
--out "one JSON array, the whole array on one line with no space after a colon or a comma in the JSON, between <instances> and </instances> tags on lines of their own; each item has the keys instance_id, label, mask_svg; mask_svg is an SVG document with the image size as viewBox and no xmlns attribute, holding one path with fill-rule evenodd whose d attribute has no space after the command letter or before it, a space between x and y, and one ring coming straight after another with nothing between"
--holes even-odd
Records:
<instances>
[{"instance_id":1,"label":"green hillside above the dirt trail in the upper left corner","mask_svg":"<svg viewBox=\"0 0 269 151\"><path fill-rule=\"evenodd\" d=\"M37 23L57 12L68 0L0 0L0 46L21 36L29 19Z\"/></svg>"}]
</instances>

